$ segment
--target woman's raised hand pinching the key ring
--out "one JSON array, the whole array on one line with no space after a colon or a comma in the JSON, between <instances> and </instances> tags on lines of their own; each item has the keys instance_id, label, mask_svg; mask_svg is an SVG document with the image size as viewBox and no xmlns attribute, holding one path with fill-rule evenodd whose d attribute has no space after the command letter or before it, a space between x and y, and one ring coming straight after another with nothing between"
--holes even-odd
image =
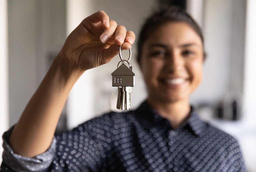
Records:
<instances>
[{"instance_id":1,"label":"woman's raised hand pinching the key ring","mask_svg":"<svg viewBox=\"0 0 256 172\"><path fill-rule=\"evenodd\" d=\"M135 40L132 31L118 26L109 16L98 11L85 18L67 37L59 57L73 69L85 71L109 62L122 49L129 49ZM58 57L57 56L57 57Z\"/></svg>"}]
</instances>

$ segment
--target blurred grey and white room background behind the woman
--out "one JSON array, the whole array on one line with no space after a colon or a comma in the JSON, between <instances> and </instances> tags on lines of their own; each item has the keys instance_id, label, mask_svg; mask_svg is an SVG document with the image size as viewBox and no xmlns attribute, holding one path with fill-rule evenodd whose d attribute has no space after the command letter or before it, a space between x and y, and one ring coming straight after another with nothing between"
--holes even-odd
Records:
<instances>
[{"instance_id":1,"label":"blurred grey and white room background behind the woman","mask_svg":"<svg viewBox=\"0 0 256 172\"><path fill-rule=\"evenodd\" d=\"M83 18L104 10L138 35L144 19L168 5L186 8L205 37L204 78L191 95L191 104L202 119L238 139L248 170L256 171L255 0L1 0L1 135L17 122L67 35ZM128 51L122 56L128 57ZM119 61L116 56L82 75L71 90L56 132L117 111L111 73ZM132 109L136 109L146 98L136 42L130 63L135 73Z\"/></svg>"}]
</instances>

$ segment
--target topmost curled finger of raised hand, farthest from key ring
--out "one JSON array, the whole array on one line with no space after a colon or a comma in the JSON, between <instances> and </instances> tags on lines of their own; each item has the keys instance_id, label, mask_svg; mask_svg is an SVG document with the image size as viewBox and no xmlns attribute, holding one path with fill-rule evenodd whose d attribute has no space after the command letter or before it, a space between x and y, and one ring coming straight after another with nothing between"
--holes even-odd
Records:
<instances>
[{"instance_id":1,"label":"topmost curled finger of raised hand, farthest from key ring","mask_svg":"<svg viewBox=\"0 0 256 172\"><path fill-rule=\"evenodd\" d=\"M87 18L85 18L82 22L82 24L84 26L86 26L87 28L90 28L91 25L90 23L98 23L101 22L102 26L104 26L104 28L109 28L110 24L109 24L109 16L102 10L88 16Z\"/></svg>"}]
</instances>

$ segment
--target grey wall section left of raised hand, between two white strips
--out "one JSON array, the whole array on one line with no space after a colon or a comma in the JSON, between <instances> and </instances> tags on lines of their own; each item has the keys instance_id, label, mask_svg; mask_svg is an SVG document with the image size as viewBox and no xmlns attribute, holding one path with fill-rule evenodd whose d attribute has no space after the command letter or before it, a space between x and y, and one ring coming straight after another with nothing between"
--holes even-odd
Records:
<instances>
[{"instance_id":1,"label":"grey wall section left of raised hand, between two white strips","mask_svg":"<svg viewBox=\"0 0 256 172\"><path fill-rule=\"evenodd\" d=\"M66 37L65 1L8 1L10 125L17 122Z\"/></svg>"}]
</instances>

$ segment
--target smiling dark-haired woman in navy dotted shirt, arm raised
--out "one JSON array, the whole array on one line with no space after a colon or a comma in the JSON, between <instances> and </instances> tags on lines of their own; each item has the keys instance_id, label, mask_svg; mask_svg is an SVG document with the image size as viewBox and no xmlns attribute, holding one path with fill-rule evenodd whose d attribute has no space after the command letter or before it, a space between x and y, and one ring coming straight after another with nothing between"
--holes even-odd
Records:
<instances>
[{"instance_id":1,"label":"smiling dark-haired woman in navy dotted shirt, arm raised","mask_svg":"<svg viewBox=\"0 0 256 172\"><path fill-rule=\"evenodd\" d=\"M2 170L246 171L237 141L201 121L189 105L202 78L203 38L194 20L177 7L153 14L139 36L147 100L134 111L104 114L52 139L81 74L109 62L123 42L123 49L131 48L134 40L132 31L103 11L84 19L18 123L4 134Z\"/></svg>"}]
</instances>

